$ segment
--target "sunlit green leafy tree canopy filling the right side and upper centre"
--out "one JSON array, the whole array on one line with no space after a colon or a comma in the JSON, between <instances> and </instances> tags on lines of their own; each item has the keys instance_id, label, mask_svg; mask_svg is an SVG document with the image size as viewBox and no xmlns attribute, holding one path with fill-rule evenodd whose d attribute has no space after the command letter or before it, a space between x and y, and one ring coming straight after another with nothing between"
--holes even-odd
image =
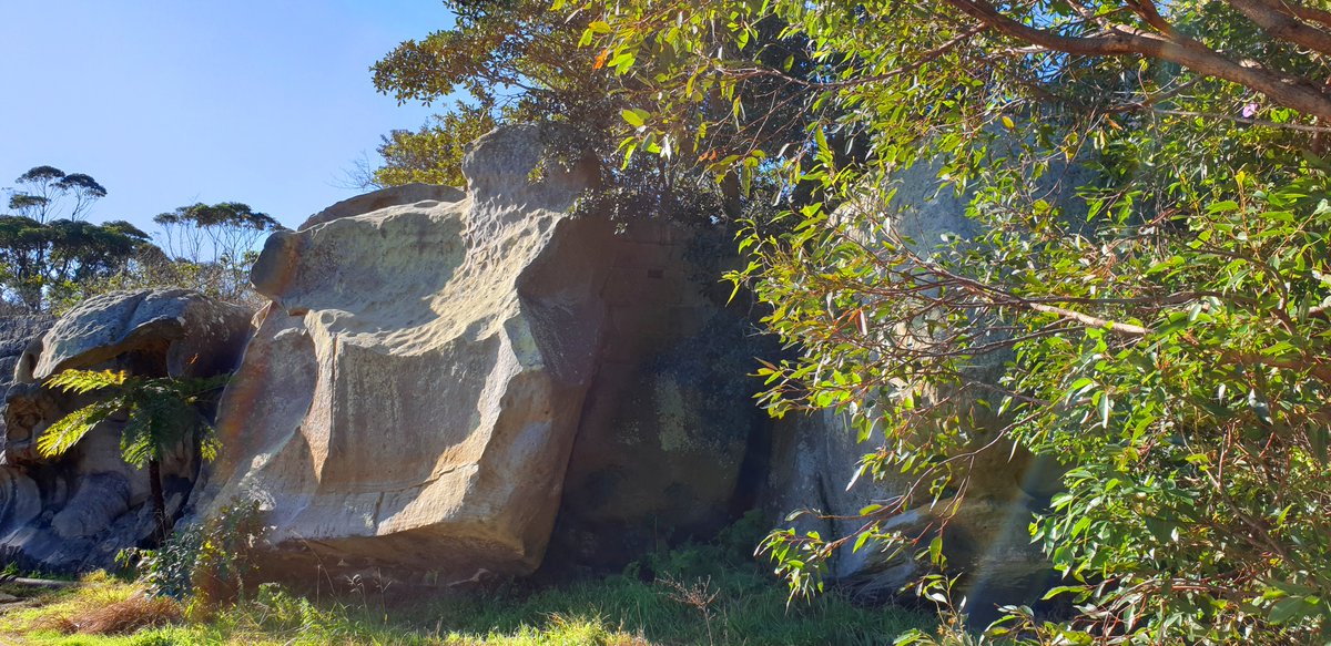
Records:
<instances>
[{"instance_id":1,"label":"sunlit green leafy tree canopy filling the right side and upper centre","mask_svg":"<svg viewBox=\"0 0 1331 646\"><path fill-rule=\"evenodd\" d=\"M1010 609L996 631L1331 635L1331 13L1292 0L540 9L459 7L457 28L381 62L377 85L583 120L622 175L652 153L740 195L769 187L784 213L744 215L752 263L732 279L799 358L760 368L761 403L848 415L882 437L861 471L917 484L865 509L862 536L928 544L885 522L945 516L976 455L1020 448L1062 465L1032 537L1078 610ZM567 96L582 88L596 93ZM578 101L599 109L560 109ZM893 189L910 167L964 198L969 235L900 235L910 205ZM1000 379L976 370L994 362ZM992 411L993 441L976 443L960 401ZM767 546L811 584L831 550L862 544L780 530Z\"/></svg>"}]
</instances>

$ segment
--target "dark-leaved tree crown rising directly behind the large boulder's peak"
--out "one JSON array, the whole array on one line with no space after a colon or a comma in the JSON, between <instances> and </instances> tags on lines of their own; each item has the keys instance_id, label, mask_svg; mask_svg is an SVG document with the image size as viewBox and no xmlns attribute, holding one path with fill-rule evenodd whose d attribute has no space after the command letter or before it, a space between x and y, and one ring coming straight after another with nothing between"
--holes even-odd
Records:
<instances>
[{"instance_id":1,"label":"dark-leaved tree crown rising directly behind the large boulder's peak","mask_svg":"<svg viewBox=\"0 0 1331 646\"><path fill-rule=\"evenodd\" d=\"M607 57L604 51L584 47L588 39L583 29L591 24L591 13L543 0L445 4L455 15L453 28L403 43L373 70L375 88L399 101L453 100L455 108L417 133L394 132L379 149L385 166L375 171L377 182L461 185L462 146L484 129L503 122L547 122L562 126L559 141L551 142L552 156L570 166L590 163L594 170L596 189L587 193L580 213L620 222L663 217L715 225L769 209L772 182L753 183L752 173L712 181L696 160L681 154L691 134L683 140L652 134L639 142L635 133L646 132L643 122L634 121L646 114L639 105L651 104L659 89L636 80L626 82L618 74L631 66L631 58ZM759 37L769 41L779 33L765 28ZM773 44L769 56L783 52ZM650 64L639 61L640 66ZM808 69L797 65L792 73ZM716 121L705 157L737 160L755 150L775 154L788 141L783 134L797 130L805 114L799 104L784 101L781 90L763 82L743 90L747 100L773 104L781 120L736 114L732 124L721 118L731 116L729 100L707 104L705 113ZM638 152L650 154L635 156ZM749 163L759 165L756 160Z\"/></svg>"}]
</instances>

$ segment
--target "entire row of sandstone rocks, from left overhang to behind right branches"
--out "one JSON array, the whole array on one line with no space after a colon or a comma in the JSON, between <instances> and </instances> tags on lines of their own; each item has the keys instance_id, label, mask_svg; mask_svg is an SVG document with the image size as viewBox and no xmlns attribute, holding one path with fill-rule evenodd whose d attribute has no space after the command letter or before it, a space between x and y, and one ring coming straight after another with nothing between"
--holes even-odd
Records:
<instances>
[{"instance_id":1,"label":"entire row of sandstone rocks, from left overhang to behind right branches","mask_svg":"<svg viewBox=\"0 0 1331 646\"><path fill-rule=\"evenodd\" d=\"M120 460L114 423L59 463L32 451L83 403L40 381L100 367L238 364L218 405L222 455L201 496L194 456L169 463L170 505L260 498L266 576L374 568L446 585L526 574L547 552L556 566L616 566L759 502L773 518L817 509L827 517L801 522L828 537L857 529L858 509L900 483L847 489L872 445L831 415L775 423L753 407L753 358L780 350L725 307L728 237L651 221L616 234L575 215L588 178L543 163L543 148L538 128L503 129L467 156L465 193L386 189L273 234L253 271L272 304L244 359L248 312L182 291L108 295L61 319L12 360L0 546L87 569L150 532L146 479ZM966 234L962 201L926 183L902 191L898 229ZM949 558L976 573L972 598L1013 599L1045 572L1025 537L1044 481L997 453L977 469L949 526ZM913 573L873 550L832 565L869 595Z\"/></svg>"}]
</instances>

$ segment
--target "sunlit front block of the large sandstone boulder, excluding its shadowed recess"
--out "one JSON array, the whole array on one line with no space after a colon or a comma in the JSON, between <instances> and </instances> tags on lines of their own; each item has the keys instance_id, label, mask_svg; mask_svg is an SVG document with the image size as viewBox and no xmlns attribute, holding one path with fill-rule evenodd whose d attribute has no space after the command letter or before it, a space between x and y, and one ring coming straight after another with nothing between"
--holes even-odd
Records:
<instances>
[{"instance_id":1,"label":"sunlit front block of the large sandstone boulder, excluding its shadowed recess","mask_svg":"<svg viewBox=\"0 0 1331 646\"><path fill-rule=\"evenodd\" d=\"M268 241L253 279L273 304L224 397L214 500L261 497L278 561L540 562L612 234L564 215L578 178L528 182L540 153L535 129L495 133L466 169L502 191L317 215Z\"/></svg>"}]
</instances>

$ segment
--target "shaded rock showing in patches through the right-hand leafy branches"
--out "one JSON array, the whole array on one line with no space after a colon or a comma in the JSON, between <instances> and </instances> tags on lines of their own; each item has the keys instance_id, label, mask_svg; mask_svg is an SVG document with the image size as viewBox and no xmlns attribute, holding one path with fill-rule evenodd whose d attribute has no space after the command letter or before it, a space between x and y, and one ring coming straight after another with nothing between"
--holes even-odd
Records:
<instances>
[{"instance_id":1,"label":"shaded rock showing in patches through the right-hand leafy branches","mask_svg":"<svg viewBox=\"0 0 1331 646\"><path fill-rule=\"evenodd\" d=\"M921 255L928 255L945 234L973 237L977 225L965 217L970 198L952 190L940 193L937 170L925 163L900 174L892 185L896 189L892 203L877 199L886 194L884 191L843 209L886 214L892 229ZM1087 174L1078 166L1061 167L1059 173L1065 170ZM1070 189L1049 187L1061 202L1075 205L1070 199ZM1075 218L1075 213L1073 209L1070 217ZM980 381L997 383L1006 359L993 355L977 359L972 367L973 376ZM925 400L944 399L940 393L920 391L920 395ZM1047 590L1053 570L1040 548L1030 544L1028 526L1032 513L1047 504L1058 480L1047 465L1034 463L1021 451L1012 451L1005 441L993 441L1002 423L988 407L976 405L969 396L953 400L966 433L965 451L988 447L969 469L964 502L949 516L944 509L948 509L950 498L945 497L933 510L916 509L901 514L885 522L882 529L924 537L918 546L905 552L905 556L912 556L928 545L940 526L945 526L949 568L954 574L966 574L957 593L966 595L972 619L984 626L997 618L996 605L1029 602ZM812 416L789 415L772 429L772 461L767 471L763 505L773 518L793 510L808 510L787 522L788 526L815 530L824 538L851 536L866 522L860 517L861 509L889 505L909 485L905 477L894 473L882 481L873 481L868 475L855 477L861 457L880 451L884 441L881 436L873 436L857 443L856 431L843 416L827 411ZM873 542L860 550L837 550L828 565L832 578L865 599L896 595L920 574L917 564L885 554Z\"/></svg>"}]
</instances>

